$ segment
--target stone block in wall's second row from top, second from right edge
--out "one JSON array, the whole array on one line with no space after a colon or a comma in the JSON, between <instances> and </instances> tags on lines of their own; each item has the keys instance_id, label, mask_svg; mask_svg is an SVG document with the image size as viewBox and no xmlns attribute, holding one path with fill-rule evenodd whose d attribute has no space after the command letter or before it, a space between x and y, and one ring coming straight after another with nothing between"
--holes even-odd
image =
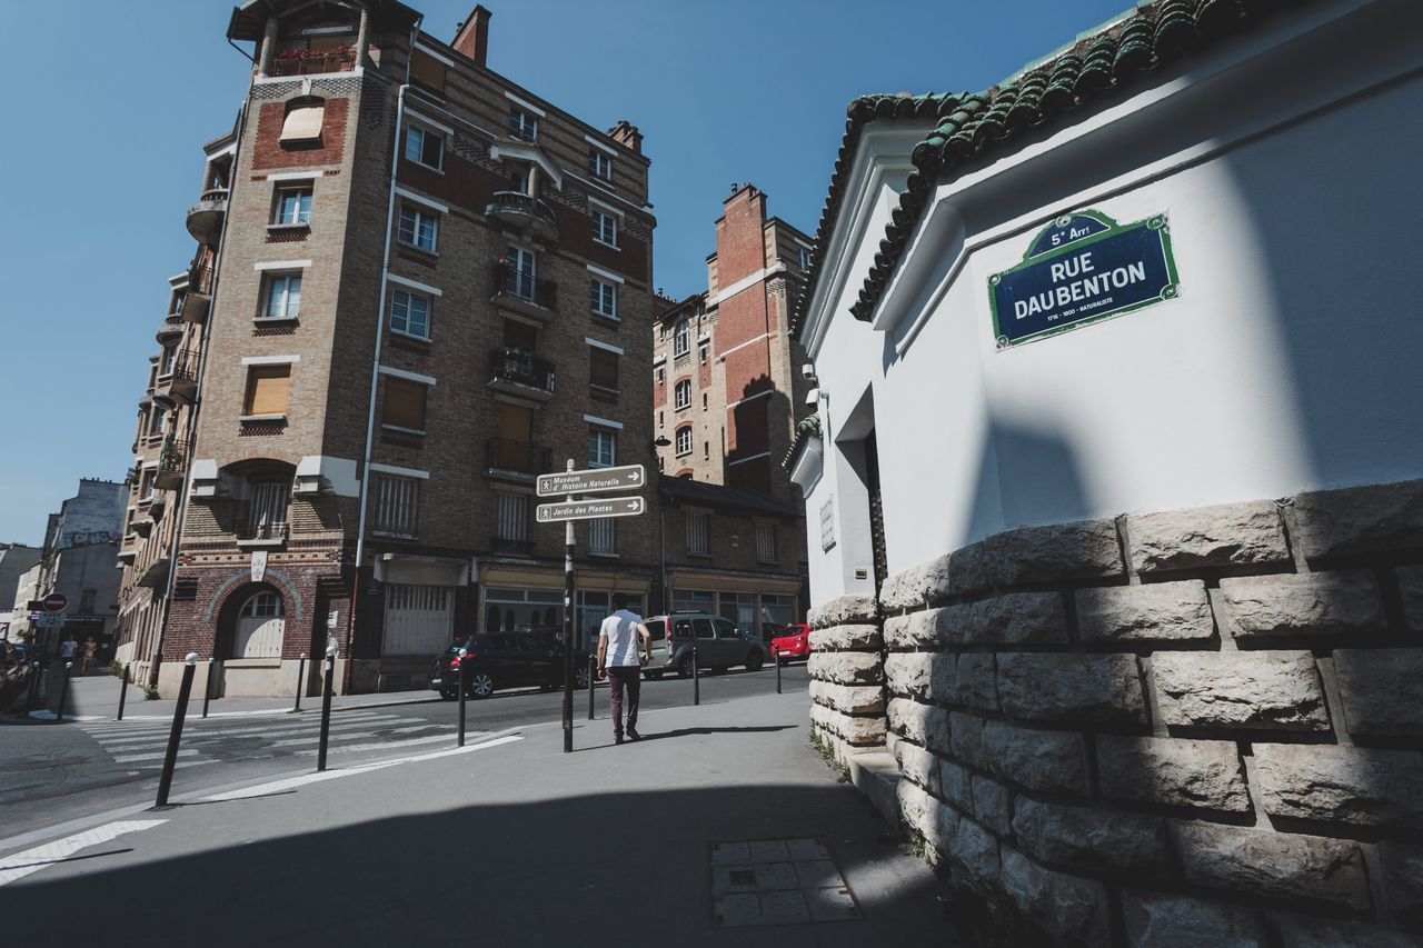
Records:
<instances>
[{"instance_id":1,"label":"stone block in wall's second row from top, second from right edge","mask_svg":"<svg viewBox=\"0 0 1423 948\"><path fill-rule=\"evenodd\" d=\"M1221 625L1237 639L1383 632L1383 602L1363 569L1221 579Z\"/></svg>"}]
</instances>

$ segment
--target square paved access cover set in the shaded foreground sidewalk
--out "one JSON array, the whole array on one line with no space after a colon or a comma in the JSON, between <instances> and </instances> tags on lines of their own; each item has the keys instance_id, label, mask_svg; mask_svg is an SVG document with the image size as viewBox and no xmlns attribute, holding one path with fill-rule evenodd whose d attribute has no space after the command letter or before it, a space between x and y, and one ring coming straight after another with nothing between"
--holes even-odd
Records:
<instances>
[{"instance_id":1,"label":"square paved access cover set in the shaded foreground sidewalk","mask_svg":"<svg viewBox=\"0 0 1423 948\"><path fill-rule=\"evenodd\" d=\"M864 918L821 837L712 843L712 921L804 925Z\"/></svg>"}]
</instances>

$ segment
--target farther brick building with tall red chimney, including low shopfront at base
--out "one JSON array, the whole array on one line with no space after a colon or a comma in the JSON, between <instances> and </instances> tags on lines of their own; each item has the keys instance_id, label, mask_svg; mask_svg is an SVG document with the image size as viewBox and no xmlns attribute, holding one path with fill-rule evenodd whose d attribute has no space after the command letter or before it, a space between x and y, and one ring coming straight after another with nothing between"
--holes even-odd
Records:
<instances>
[{"instance_id":1,"label":"farther brick building with tall red chimney, including low shopfront at base","mask_svg":"<svg viewBox=\"0 0 1423 948\"><path fill-rule=\"evenodd\" d=\"M767 216L761 191L733 186L707 292L659 307L653 430L672 608L758 626L804 615L804 505L780 460L808 413L788 327L810 251Z\"/></svg>"}]
</instances>

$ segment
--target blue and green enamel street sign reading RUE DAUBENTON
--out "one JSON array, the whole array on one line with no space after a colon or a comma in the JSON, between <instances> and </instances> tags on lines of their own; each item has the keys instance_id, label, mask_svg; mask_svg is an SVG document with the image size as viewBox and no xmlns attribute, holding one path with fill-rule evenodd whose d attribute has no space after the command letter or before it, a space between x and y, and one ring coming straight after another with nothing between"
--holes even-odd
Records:
<instances>
[{"instance_id":1,"label":"blue and green enamel street sign reading RUE DAUBENTON","mask_svg":"<svg viewBox=\"0 0 1423 948\"><path fill-rule=\"evenodd\" d=\"M988 279L999 349L1174 299L1180 292L1164 214L1118 225L1099 211L1043 228L1023 262Z\"/></svg>"}]
</instances>

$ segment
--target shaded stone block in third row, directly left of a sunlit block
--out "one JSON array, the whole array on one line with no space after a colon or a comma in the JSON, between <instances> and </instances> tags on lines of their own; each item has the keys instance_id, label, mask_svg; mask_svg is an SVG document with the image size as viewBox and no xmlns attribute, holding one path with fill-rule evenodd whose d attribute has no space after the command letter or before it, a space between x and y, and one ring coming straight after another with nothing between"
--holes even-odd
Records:
<instances>
[{"instance_id":1,"label":"shaded stone block in third row, directly left of a sunlit block","mask_svg":"<svg viewBox=\"0 0 1423 948\"><path fill-rule=\"evenodd\" d=\"M1029 720L1146 725L1134 655L999 653L1003 713Z\"/></svg>"}]
</instances>

